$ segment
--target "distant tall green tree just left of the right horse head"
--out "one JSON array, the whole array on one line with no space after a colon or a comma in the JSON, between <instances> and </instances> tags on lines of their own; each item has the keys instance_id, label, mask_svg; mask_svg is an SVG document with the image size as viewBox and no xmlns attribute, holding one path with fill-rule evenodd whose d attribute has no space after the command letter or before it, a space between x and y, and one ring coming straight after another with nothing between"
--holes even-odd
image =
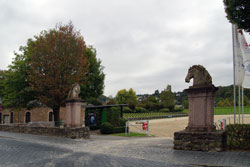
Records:
<instances>
[{"instance_id":1,"label":"distant tall green tree just left of the right horse head","mask_svg":"<svg viewBox=\"0 0 250 167\"><path fill-rule=\"evenodd\" d=\"M171 85L167 85L167 88L161 92L160 99L164 108L169 108L170 111L174 109L174 93L172 92Z\"/></svg>"}]
</instances>

